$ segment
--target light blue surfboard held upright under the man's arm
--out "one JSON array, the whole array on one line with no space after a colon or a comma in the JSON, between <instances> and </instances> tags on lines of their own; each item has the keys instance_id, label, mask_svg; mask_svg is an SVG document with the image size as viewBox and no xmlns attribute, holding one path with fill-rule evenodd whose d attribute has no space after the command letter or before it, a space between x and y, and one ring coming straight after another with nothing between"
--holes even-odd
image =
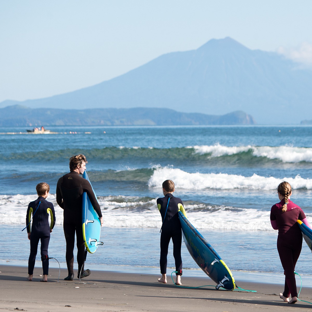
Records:
<instances>
[{"instance_id":1,"label":"light blue surfboard held upright under the man's arm","mask_svg":"<svg viewBox=\"0 0 312 312\"><path fill-rule=\"evenodd\" d=\"M90 182L86 171L83 173L82 177ZM93 188L92 190L95 194ZM94 253L98 245L103 245L103 243L100 242L101 223L86 192L82 194L82 234L85 241L85 248L90 253Z\"/></svg>"}]
</instances>

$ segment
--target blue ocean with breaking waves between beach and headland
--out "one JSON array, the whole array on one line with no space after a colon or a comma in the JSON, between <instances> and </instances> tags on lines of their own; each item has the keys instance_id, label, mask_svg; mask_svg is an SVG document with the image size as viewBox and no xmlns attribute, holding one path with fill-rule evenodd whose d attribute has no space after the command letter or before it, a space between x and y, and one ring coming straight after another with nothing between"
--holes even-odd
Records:
<instances>
[{"instance_id":1,"label":"blue ocean with breaking waves between beach and headland","mask_svg":"<svg viewBox=\"0 0 312 312\"><path fill-rule=\"evenodd\" d=\"M270 209L278 184L288 181L291 200L312 224L312 127L309 126L120 126L49 127L50 134L1 127L0 265L27 266L25 227L36 185L50 185L56 209L49 256L66 267L59 177L69 158L85 154L104 226L86 267L159 273L161 217L156 199L162 182L175 183L189 221L212 245L234 278L283 281ZM36 267L41 267L37 256ZM296 272L311 281L311 251L303 241ZM206 276L182 246L183 276ZM53 266L53 259L50 261ZM57 264L56 264L57 266ZM174 266L169 247L168 272ZM27 270L25 271L27 273ZM245 274L246 273L246 274ZM247 274L248 273L248 274ZM212 281L211 281L212 282ZM309 282L310 283L310 282Z\"/></svg>"}]
</instances>

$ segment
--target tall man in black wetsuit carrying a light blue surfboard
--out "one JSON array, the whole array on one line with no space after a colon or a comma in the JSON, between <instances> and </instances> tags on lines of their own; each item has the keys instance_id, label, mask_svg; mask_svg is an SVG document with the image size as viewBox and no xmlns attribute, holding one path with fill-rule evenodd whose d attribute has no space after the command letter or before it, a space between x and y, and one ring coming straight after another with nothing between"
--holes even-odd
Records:
<instances>
[{"instance_id":1,"label":"tall man in black wetsuit carrying a light blue surfboard","mask_svg":"<svg viewBox=\"0 0 312 312\"><path fill-rule=\"evenodd\" d=\"M74 246L75 232L77 237L78 278L90 275L90 270L84 270L85 243L82 235L82 193L86 192L93 208L103 224L100 205L93 193L90 182L80 176L85 172L87 160L84 155L72 156L69 160L70 173L61 177L56 186L56 202L64 209L64 235L66 239L66 263L68 276L64 280L74 279ZM81 274L80 274L81 272Z\"/></svg>"}]
</instances>

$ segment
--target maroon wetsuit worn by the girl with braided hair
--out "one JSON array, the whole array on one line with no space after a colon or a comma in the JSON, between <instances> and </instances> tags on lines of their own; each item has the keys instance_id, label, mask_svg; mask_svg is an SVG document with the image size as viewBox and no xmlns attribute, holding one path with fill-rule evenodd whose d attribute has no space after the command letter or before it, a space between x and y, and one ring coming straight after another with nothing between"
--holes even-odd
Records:
<instances>
[{"instance_id":1,"label":"maroon wetsuit worn by the girl with braided hair","mask_svg":"<svg viewBox=\"0 0 312 312\"><path fill-rule=\"evenodd\" d=\"M305 219L302 209L292 201L288 201L287 211L282 212L284 199L273 205L270 219L277 222L277 251L280 255L285 274L285 289L283 296L288 298L298 297L295 280L295 265L299 258L302 247L302 233L297 224L297 220Z\"/></svg>"}]
</instances>

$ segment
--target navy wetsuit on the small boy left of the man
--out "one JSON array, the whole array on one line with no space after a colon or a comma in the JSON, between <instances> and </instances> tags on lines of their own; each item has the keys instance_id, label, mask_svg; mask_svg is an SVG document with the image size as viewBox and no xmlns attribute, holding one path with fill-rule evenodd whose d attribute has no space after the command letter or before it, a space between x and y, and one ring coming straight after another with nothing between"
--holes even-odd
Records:
<instances>
[{"instance_id":1,"label":"navy wetsuit on the small boy left of the man","mask_svg":"<svg viewBox=\"0 0 312 312\"><path fill-rule=\"evenodd\" d=\"M51 214L51 225L49 224L49 213ZM30 227L31 219L32 227ZM29 275L32 275L34 271L39 240L41 241L43 275L49 274L48 246L50 241L50 229L53 229L54 225L55 212L51 202L48 202L43 197L39 196L35 201L29 203L26 214L27 233L31 233L30 255L28 259Z\"/></svg>"}]
</instances>

